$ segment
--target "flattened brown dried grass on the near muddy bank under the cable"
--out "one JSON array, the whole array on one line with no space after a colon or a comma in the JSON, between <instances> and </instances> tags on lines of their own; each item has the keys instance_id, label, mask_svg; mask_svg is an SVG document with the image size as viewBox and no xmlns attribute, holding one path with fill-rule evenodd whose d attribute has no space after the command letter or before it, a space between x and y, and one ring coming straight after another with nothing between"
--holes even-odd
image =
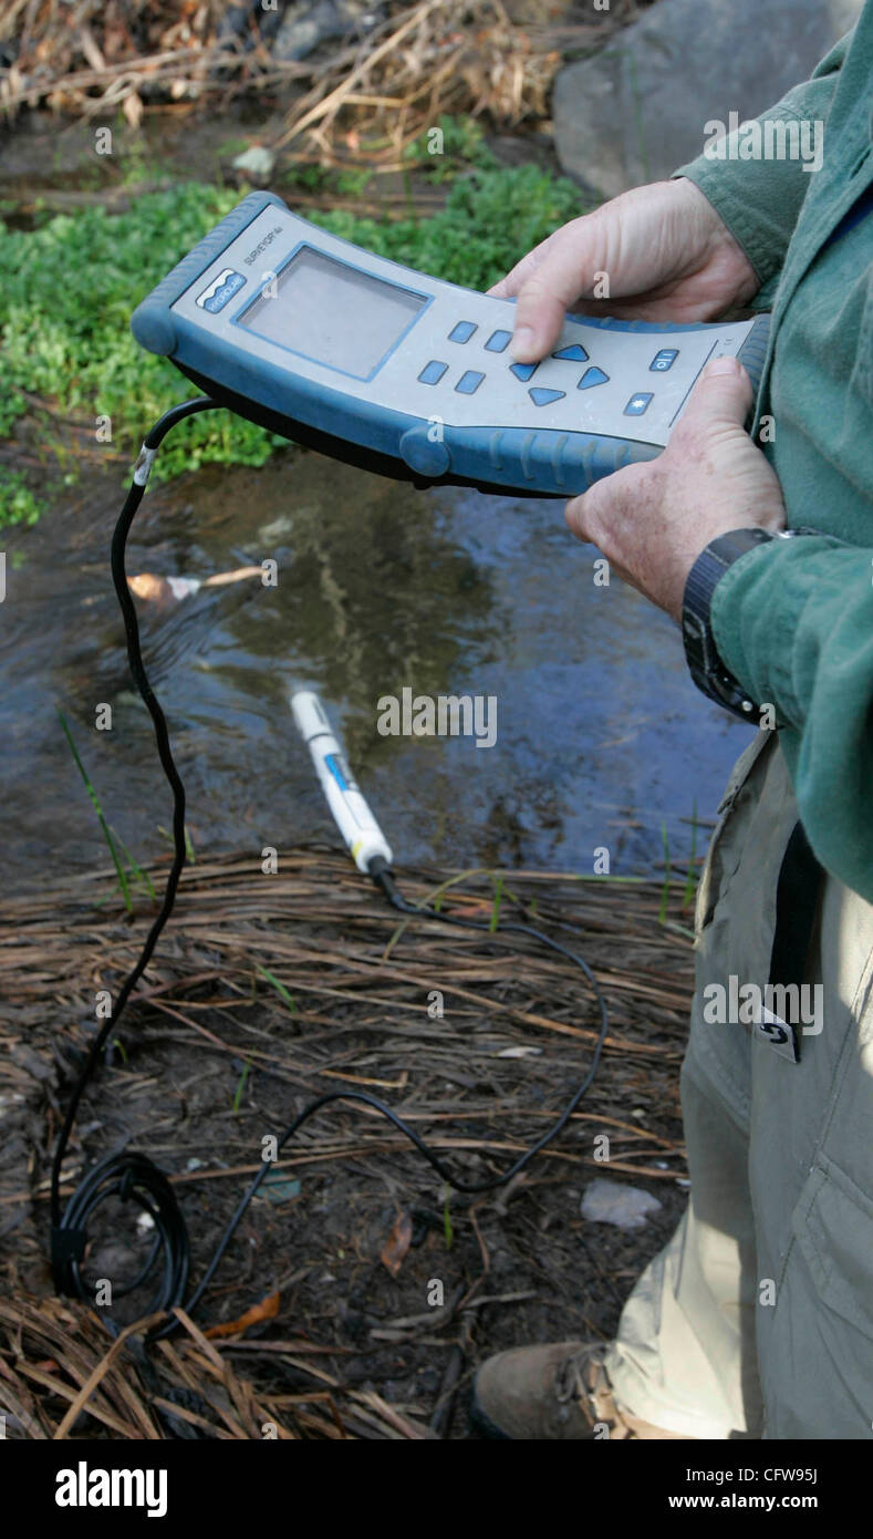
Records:
<instances>
[{"instance_id":1,"label":"flattened brown dried grass on the near muddy bank under the cable","mask_svg":"<svg viewBox=\"0 0 873 1539\"><path fill-rule=\"evenodd\" d=\"M166 866L151 873L158 891L164 873ZM403 886L410 899L423 900L447 876L410 871ZM48 1162L69 1074L89 1042L95 990L117 991L152 916L141 896L131 923L111 882L105 871L58 882L48 894L0 900L0 1237L9 1257L14 1250L0 1300L0 1413L8 1417L8 1436L252 1439L264 1436L267 1422L280 1437L443 1436L409 1407L389 1405L370 1385L343 1379L349 1347L324 1345L323 1317L307 1327L298 1291L290 1293L277 1276L277 1265L281 1271L287 1262L287 1230L274 1203L254 1219L252 1277L234 1277L231 1265L231 1288L215 1291L214 1285L204 1300L212 1319L224 1311L223 1324L209 1333L180 1314L183 1330L146 1354L141 1324L112 1342L97 1311L37 1296L49 1288ZM659 922L658 882L506 873L504 917L515 899L527 911L535 905L536 923L586 956L610 1010L601 1071L570 1127L539 1156L524 1188L527 1200L536 1205L536 1196L530 1197L536 1191L555 1193L558 1200L563 1183L578 1179L586 1165L601 1174L592 1136L604 1128L612 1140L610 1174L675 1193L676 1179L685 1176L678 1067L692 990L682 885L669 888L667 923ZM456 913L487 922L492 902L486 874L452 886ZM435 986L444 994L446 1016L432 1020L427 993ZM109 1130L117 1139L126 1127L168 1170L180 1199L191 1191L194 1199L207 1199L212 1224L223 1225L243 1179L258 1168L257 1156L246 1157L249 1130L261 1128L267 1114L289 1120L289 1097L301 1103L343 1087L372 1087L435 1150L455 1162L476 1159L480 1176L496 1173L552 1120L581 1079L596 1030L590 988L570 962L500 930L489 934L429 920L400 925L341 854L283 851L277 876L261 874L252 857L198 860L183 876L172 922L120 1028L137 1051L129 1063L98 1073L80 1108L63 1191L80 1179L85 1154L106 1153ZM232 1087L240 1060L246 1062L257 1079L255 1120L229 1123L227 1090L218 1102L207 1091L217 1120L209 1122L204 1140L203 1119L195 1125L191 1108L178 1110L180 1054L186 1054L189 1077L206 1085L209 1071L215 1087ZM66 1076L63 1090L58 1073ZM326 1174L335 1180L349 1170L358 1191L372 1171L381 1202L387 1170L401 1190L406 1183L413 1191L421 1179L418 1156L390 1125L369 1108L344 1103L307 1123L277 1170L303 1179L307 1193ZM501 1244L506 1205L515 1202L504 1188L466 1210L483 1257L480 1284L489 1273L489 1245ZM306 1210L298 1213L297 1230L304 1217ZM373 1256L378 1267L372 1233L361 1230L358 1237L361 1254ZM192 1240L201 1247L197 1276L206 1236L192 1233ZM564 1277L552 1274L553 1297L561 1285L567 1294L578 1290L578 1268L572 1256ZM271 1279L269 1287L263 1279ZM227 1271L217 1280L226 1284ZM493 1293L486 1285L475 1299L476 1288L461 1288L464 1299L458 1296L443 1311L441 1324L433 1313L427 1325L418 1316L406 1319L409 1311L383 1320L370 1331L367 1350L380 1340L389 1354L398 1342L452 1348L444 1333L456 1331L460 1322L469 1354L472 1322ZM515 1288L496 1302L516 1308L516 1300L530 1297ZM613 1290L606 1273L602 1288ZM317 1284L314 1290L318 1311ZM252 1330L254 1339L246 1334ZM321 1367L327 1354L334 1371ZM441 1404L450 1399L458 1374L452 1350ZM286 1393L289 1377L295 1393ZM433 1425L443 1428L440 1416Z\"/></svg>"}]
</instances>

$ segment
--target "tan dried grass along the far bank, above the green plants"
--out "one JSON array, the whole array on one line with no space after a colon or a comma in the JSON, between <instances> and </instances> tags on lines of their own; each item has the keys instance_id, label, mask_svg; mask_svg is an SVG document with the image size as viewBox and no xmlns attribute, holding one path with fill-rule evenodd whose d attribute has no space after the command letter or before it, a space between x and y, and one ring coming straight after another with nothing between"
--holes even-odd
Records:
<instances>
[{"instance_id":1,"label":"tan dried grass along the far bank, above the green plants","mask_svg":"<svg viewBox=\"0 0 873 1539\"><path fill-rule=\"evenodd\" d=\"M0 42L18 35L18 49L0 69L0 114L45 103L106 120L120 108L135 126L146 103L278 92L294 97L280 146L330 159L355 152L366 125L397 155L443 112L503 128L546 117L561 52L602 42L638 6L618 0L592 23L561 26L533 0L513 14L503 0L390 0L366 34L289 63L263 42L218 42L223 11L220 0L12 0Z\"/></svg>"}]
</instances>

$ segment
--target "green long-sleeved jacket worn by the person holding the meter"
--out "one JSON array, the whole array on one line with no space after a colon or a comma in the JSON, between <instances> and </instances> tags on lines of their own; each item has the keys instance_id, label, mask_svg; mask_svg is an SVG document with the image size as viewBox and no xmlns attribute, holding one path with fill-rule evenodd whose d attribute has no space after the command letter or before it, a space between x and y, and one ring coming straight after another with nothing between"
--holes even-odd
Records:
<instances>
[{"instance_id":1,"label":"green long-sleeved jacket worn by the person holding the meter","mask_svg":"<svg viewBox=\"0 0 873 1539\"><path fill-rule=\"evenodd\" d=\"M753 305L773 311L761 446L788 528L822 531L758 546L725 573L716 645L752 699L787 723L782 751L818 859L873 902L871 112L865 0L812 80L758 120L762 132L765 120L796 125L779 129L799 146L795 159L739 159L752 145L741 126L725 146L735 159L701 155L675 174L699 186L761 279ZM816 122L821 169L804 171Z\"/></svg>"}]
</instances>

